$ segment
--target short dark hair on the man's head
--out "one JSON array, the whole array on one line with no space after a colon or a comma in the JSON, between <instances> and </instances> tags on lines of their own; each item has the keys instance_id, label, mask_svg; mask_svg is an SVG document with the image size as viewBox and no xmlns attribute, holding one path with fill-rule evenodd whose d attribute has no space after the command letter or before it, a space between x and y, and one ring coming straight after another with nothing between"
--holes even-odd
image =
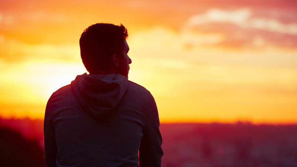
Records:
<instances>
[{"instance_id":1,"label":"short dark hair on the man's head","mask_svg":"<svg viewBox=\"0 0 297 167\"><path fill-rule=\"evenodd\" d=\"M107 70L113 54L122 54L127 29L121 24L97 23L89 26L80 36L80 56L89 73Z\"/></svg>"}]
</instances>

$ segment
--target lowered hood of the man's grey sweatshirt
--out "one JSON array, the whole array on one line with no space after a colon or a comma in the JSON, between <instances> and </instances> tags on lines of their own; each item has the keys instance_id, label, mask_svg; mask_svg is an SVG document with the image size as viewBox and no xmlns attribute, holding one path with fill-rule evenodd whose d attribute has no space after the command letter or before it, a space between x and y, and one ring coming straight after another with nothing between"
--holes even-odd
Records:
<instances>
[{"instance_id":1,"label":"lowered hood of the man's grey sweatshirt","mask_svg":"<svg viewBox=\"0 0 297 167\"><path fill-rule=\"evenodd\" d=\"M119 104L127 87L128 78L120 74L78 75L71 82L78 103L96 118L108 115Z\"/></svg>"}]
</instances>

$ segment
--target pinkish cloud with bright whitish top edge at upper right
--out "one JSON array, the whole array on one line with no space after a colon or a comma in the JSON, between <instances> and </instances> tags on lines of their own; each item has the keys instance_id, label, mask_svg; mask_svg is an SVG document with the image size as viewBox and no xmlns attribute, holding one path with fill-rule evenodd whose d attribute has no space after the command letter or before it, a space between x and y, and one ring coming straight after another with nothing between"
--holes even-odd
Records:
<instances>
[{"instance_id":1,"label":"pinkish cloud with bright whitish top edge at upper right","mask_svg":"<svg viewBox=\"0 0 297 167\"><path fill-rule=\"evenodd\" d=\"M185 34L202 34L201 37L187 35L188 42L194 45L218 45L237 48L297 46L296 21L284 23L282 20L276 19L270 10L268 10L270 17L267 13L265 17L262 16L263 13L262 15L256 14L248 8L237 10L209 9L202 14L190 17L183 31ZM284 16L282 15L282 17ZM205 35L209 37L208 40L203 40L205 42L195 40L195 38L203 39Z\"/></svg>"}]
</instances>

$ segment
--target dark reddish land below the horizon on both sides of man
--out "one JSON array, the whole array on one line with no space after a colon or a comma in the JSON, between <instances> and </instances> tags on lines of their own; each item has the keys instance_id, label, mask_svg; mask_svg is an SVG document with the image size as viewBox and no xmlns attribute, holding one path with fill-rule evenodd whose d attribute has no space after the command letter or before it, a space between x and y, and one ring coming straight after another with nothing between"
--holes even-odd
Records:
<instances>
[{"instance_id":1,"label":"dark reddish land below the horizon on both sides of man","mask_svg":"<svg viewBox=\"0 0 297 167\"><path fill-rule=\"evenodd\" d=\"M0 119L1 167L45 166L43 120ZM161 124L162 167L296 167L297 125Z\"/></svg>"}]
</instances>

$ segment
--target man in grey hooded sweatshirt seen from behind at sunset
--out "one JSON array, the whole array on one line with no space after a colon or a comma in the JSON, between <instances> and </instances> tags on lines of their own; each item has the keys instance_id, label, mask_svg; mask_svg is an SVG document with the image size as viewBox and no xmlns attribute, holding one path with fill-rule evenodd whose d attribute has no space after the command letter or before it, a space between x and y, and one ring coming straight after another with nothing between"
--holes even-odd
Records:
<instances>
[{"instance_id":1,"label":"man in grey hooded sweatshirt seen from behind at sunset","mask_svg":"<svg viewBox=\"0 0 297 167\"><path fill-rule=\"evenodd\" d=\"M148 90L128 81L127 36L123 25L106 23L82 33L80 54L90 74L78 75L48 100L48 167L161 166L157 106Z\"/></svg>"}]
</instances>

